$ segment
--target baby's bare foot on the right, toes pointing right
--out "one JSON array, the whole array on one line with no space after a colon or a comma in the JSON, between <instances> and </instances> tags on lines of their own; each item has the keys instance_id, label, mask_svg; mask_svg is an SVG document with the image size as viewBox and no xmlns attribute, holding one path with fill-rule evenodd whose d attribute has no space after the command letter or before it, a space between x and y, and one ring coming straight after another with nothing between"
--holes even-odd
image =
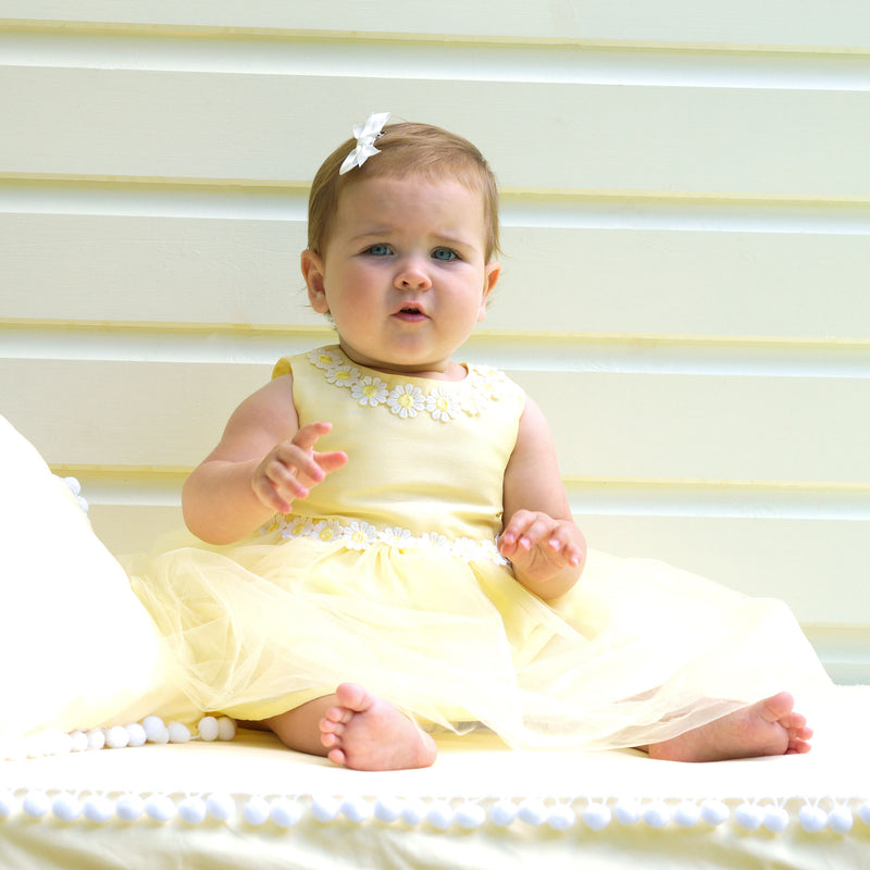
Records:
<instances>
[{"instance_id":1,"label":"baby's bare foot on the right, toes pointing right","mask_svg":"<svg viewBox=\"0 0 870 870\"><path fill-rule=\"evenodd\" d=\"M794 698L781 692L648 748L650 758L668 761L724 761L808 753L811 736Z\"/></svg>"}]
</instances>

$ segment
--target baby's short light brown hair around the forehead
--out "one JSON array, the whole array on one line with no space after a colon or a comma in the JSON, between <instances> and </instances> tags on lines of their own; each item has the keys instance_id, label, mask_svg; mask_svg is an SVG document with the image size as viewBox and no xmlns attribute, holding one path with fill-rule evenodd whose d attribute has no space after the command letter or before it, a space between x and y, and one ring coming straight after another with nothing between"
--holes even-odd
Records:
<instances>
[{"instance_id":1,"label":"baby's short light brown hair around the forehead","mask_svg":"<svg viewBox=\"0 0 870 870\"><path fill-rule=\"evenodd\" d=\"M381 152L362 166L338 174L345 158L357 145L348 139L323 161L311 183L308 199L308 248L323 254L330 240L338 198L348 186L364 178L420 175L430 181L452 177L483 197L485 253L489 262L500 252L498 243L498 188L484 156L468 139L430 124L387 124L375 139Z\"/></svg>"}]
</instances>

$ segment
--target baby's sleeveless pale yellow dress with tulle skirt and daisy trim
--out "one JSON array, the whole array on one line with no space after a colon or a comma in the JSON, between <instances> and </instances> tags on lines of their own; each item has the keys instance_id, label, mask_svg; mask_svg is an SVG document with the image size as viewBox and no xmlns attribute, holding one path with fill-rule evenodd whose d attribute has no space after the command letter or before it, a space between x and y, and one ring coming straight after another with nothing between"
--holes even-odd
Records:
<instances>
[{"instance_id":1,"label":"baby's sleeveless pale yellow dress with tulle skirt and daisy trim","mask_svg":"<svg viewBox=\"0 0 870 870\"><path fill-rule=\"evenodd\" d=\"M520 585L495 538L524 394L467 368L387 375L337 346L278 362L347 465L245 540L133 577L199 709L263 719L355 681L424 726L610 748L826 685L783 604L669 566L591 552L551 606Z\"/></svg>"}]
</instances>

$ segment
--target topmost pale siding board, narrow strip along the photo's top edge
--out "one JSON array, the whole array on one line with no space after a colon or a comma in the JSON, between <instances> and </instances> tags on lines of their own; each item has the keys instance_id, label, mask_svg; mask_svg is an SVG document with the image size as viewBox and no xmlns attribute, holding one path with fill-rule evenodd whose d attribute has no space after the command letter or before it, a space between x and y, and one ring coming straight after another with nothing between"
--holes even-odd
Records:
<instances>
[{"instance_id":1,"label":"topmost pale siding board, narrow strip along the photo's top edge","mask_svg":"<svg viewBox=\"0 0 870 870\"><path fill-rule=\"evenodd\" d=\"M730 45L870 47L862 0L750 0L698 4L692 0L547 0L529 3L467 3L442 0L437 14L421 0L387 8L372 3L331 5L303 0L3 0L0 15L34 23L117 23L173 27L356 32L389 30L432 38L465 36L518 40L703 42ZM796 14L799 12L799 14Z\"/></svg>"}]
</instances>

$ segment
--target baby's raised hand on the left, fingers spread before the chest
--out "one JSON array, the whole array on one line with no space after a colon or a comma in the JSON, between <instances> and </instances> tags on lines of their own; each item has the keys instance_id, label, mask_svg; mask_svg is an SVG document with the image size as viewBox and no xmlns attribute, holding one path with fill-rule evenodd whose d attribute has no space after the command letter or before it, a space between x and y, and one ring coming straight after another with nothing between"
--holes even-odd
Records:
<instances>
[{"instance_id":1,"label":"baby's raised hand on the left, fingers spread before the chest","mask_svg":"<svg viewBox=\"0 0 870 870\"><path fill-rule=\"evenodd\" d=\"M251 477L251 487L263 505L289 513L294 499L307 498L312 486L347 462L347 453L314 450L318 438L332 427L332 423L309 423L270 450Z\"/></svg>"}]
</instances>

